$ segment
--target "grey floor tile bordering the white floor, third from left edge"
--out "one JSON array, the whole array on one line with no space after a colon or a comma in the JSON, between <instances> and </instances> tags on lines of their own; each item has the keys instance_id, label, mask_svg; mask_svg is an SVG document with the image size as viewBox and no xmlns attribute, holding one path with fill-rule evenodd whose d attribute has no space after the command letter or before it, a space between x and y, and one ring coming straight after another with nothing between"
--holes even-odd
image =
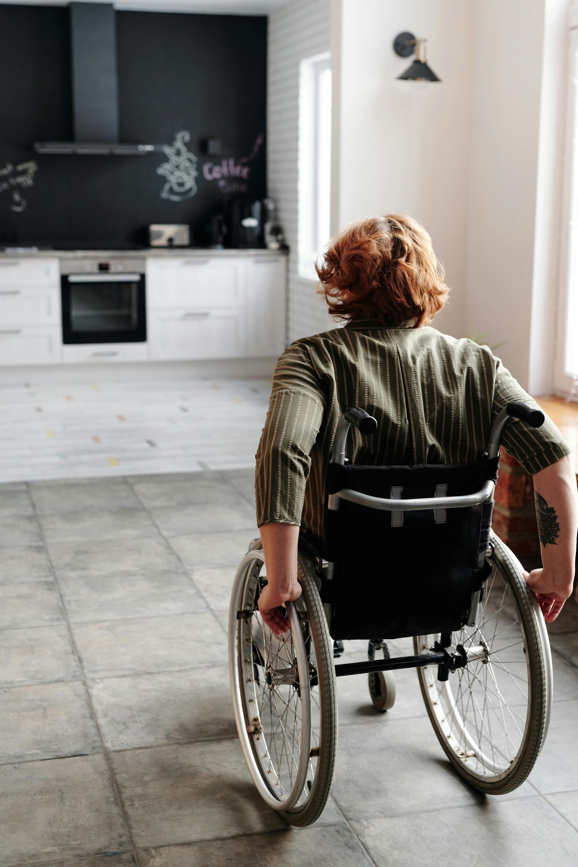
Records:
<instances>
[{"instance_id":1,"label":"grey floor tile bordering the white floor, third from left edge","mask_svg":"<svg viewBox=\"0 0 578 867\"><path fill-rule=\"evenodd\" d=\"M237 495L236 488L217 473L209 478L201 476L171 481L149 476L145 481L136 482L133 488L142 504L154 509L181 505L227 505L231 496Z\"/></svg>"}]
</instances>

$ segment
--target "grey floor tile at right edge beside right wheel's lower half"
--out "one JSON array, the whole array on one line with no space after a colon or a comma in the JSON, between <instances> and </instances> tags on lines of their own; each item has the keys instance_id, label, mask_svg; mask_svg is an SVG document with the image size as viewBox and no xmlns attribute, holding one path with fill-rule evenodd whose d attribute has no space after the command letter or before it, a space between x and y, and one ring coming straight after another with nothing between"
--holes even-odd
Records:
<instances>
[{"instance_id":1,"label":"grey floor tile at right edge beside right wheel's lower half","mask_svg":"<svg viewBox=\"0 0 578 867\"><path fill-rule=\"evenodd\" d=\"M538 792L569 792L578 780L578 701L554 701L548 735L529 781Z\"/></svg>"}]
</instances>

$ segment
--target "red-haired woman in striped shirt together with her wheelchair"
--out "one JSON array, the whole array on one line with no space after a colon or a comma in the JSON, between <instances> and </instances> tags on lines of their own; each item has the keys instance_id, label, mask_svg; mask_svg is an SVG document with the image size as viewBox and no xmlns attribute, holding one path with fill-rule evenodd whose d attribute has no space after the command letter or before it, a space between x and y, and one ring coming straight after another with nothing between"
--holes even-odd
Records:
<instances>
[{"instance_id":1,"label":"red-haired woman in striped shirt together with her wheelchair","mask_svg":"<svg viewBox=\"0 0 578 867\"><path fill-rule=\"evenodd\" d=\"M333 779L335 677L367 674L384 711L393 670L416 668L457 772L510 792L548 728L543 618L574 581L568 446L488 347L432 328L449 290L414 220L349 226L317 273L345 327L295 341L277 363L257 452L261 540L231 595L251 776L290 824L311 824ZM500 443L534 477L543 565L529 575L491 531ZM407 636L414 654L390 657L386 640ZM361 638L367 662L336 665L341 642Z\"/></svg>"}]
</instances>

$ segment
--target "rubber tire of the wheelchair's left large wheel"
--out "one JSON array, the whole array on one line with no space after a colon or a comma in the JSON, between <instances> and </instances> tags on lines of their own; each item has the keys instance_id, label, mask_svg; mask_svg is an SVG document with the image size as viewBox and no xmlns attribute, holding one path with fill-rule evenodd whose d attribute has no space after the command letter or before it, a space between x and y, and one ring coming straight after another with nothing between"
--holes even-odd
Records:
<instances>
[{"instance_id":1,"label":"rubber tire of the wheelchair's left large wheel","mask_svg":"<svg viewBox=\"0 0 578 867\"><path fill-rule=\"evenodd\" d=\"M302 806L280 812L289 825L305 827L312 825L323 812L327 803L335 771L337 754L337 689L333 659L333 641L329 636L323 603L317 588L315 567L300 551L297 556L298 579L302 586L302 602L297 600L298 610L306 613L309 632L315 648L315 668L319 685L321 726L319 755L315 779L308 799Z\"/></svg>"}]
</instances>

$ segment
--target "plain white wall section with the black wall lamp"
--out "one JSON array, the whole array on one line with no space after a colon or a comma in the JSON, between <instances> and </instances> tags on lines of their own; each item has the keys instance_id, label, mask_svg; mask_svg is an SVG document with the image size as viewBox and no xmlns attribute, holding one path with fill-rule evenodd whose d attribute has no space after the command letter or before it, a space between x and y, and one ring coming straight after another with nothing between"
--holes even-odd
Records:
<instances>
[{"instance_id":1,"label":"plain white wall section with the black wall lamp","mask_svg":"<svg viewBox=\"0 0 578 867\"><path fill-rule=\"evenodd\" d=\"M383 212L418 218L432 234L452 287L435 324L461 336L473 2L335 0L333 16L332 55L341 56L334 224ZM428 60L442 83L397 80L411 62L393 53L393 39L403 30L427 37Z\"/></svg>"}]
</instances>

